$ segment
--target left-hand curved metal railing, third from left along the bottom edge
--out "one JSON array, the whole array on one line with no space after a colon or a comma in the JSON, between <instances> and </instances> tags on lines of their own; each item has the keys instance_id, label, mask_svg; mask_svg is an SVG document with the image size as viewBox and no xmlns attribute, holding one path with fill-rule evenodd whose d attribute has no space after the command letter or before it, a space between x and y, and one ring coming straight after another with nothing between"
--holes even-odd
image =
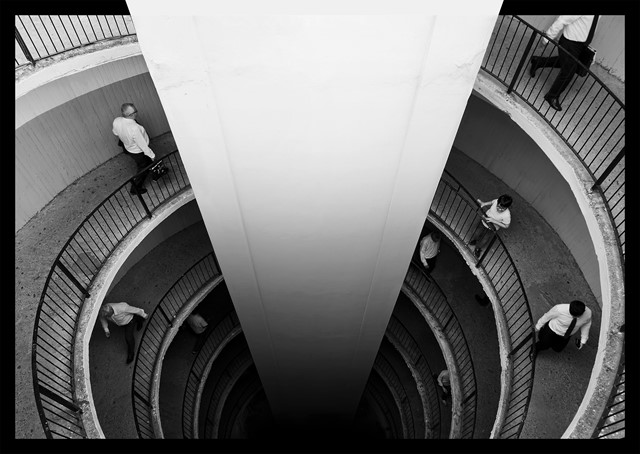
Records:
<instances>
[{"instance_id":1,"label":"left-hand curved metal railing, third from left along the bottom edge","mask_svg":"<svg viewBox=\"0 0 640 454\"><path fill-rule=\"evenodd\" d=\"M219 354L219 348L226 344L234 328L240 326L240 321L235 311L232 311L220 321L213 329L207 330L207 340L196 353L196 359L191 365L187 384L182 399L182 436L184 438L198 438L195 433L195 421L198 418L198 390L207 379L209 369L207 364L212 356Z\"/></svg>"}]
</instances>

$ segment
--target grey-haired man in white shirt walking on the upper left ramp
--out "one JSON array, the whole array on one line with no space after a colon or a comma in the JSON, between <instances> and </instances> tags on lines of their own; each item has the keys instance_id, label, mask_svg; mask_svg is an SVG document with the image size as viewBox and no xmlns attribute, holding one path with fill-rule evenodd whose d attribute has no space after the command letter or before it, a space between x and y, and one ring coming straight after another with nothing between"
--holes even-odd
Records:
<instances>
[{"instance_id":1,"label":"grey-haired man in white shirt walking on the upper left ramp","mask_svg":"<svg viewBox=\"0 0 640 454\"><path fill-rule=\"evenodd\" d=\"M120 107L121 117L113 120L112 132L122 141L124 152L131 156L137 165L137 172L151 164L156 155L149 148L149 136L136 117L138 110L131 103L124 103ZM148 171L134 178L131 186L132 194L144 194L147 190L143 187Z\"/></svg>"}]
</instances>

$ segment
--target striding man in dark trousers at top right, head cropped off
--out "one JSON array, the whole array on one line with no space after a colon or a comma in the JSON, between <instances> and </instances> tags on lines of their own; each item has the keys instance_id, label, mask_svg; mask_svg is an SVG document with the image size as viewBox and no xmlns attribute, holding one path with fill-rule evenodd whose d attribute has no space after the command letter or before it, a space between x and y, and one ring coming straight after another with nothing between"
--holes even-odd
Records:
<instances>
[{"instance_id":1,"label":"striding man in dark trousers at top right, head cropped off","mask_svg":"<svg viewBox=\"0 0 640 454\"><path fill-rule=\"evenodd\" d=\"M571 58L570 55L579 59L580 54L587 47L587 38L589 37L594 17L558 16L545 32L551 39L556 39L558 34L562 32L562 36L558 41L560 44L558 55L554 57L537 57L534 55L530 59L531 69L529 70L529 75L531 77L536 77L536 70L539 68L560 68L560 73L556 76L556 80L553 81L553 85L544 95L544 99L555 110L562 110L559 100L560 95L567 88L578 68L576 60ZM549 40L543 37L541 42L546 45Z\"/></svg>"}]
</instances>

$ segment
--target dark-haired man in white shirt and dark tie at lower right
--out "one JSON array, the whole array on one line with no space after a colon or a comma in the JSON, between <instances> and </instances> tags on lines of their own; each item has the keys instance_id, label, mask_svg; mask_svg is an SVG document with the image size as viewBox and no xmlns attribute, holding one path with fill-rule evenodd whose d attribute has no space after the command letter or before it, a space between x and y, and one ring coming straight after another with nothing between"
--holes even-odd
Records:
<instances>
[{"instance_id":1,"label":"dark-haired man in white shirt and dark tie at lower right","mask_svg":"<svg viewBox=\"0 0 640 454\"><path fill-rule=\"evenodd\" d=\"M535 344L535 350L539 352L551 347L560 352L578 330L580 331L580 339L576 338L576 347L580 350L589 339L590 328L591 309L586 307L582 301L575 300L569 304L556 304L536 323L538 342Z\"/></svg>"}]
</instances>

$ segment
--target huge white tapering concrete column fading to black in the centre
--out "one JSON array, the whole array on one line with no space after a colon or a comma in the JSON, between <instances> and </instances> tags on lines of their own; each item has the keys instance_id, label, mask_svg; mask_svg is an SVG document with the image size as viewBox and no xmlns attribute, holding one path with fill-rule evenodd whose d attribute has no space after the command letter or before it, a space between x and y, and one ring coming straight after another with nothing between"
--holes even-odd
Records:
<instances>
[{"instance_id":1,"label":"huge white tapering concrete column fading to black in the centre","mask_svg":"<svg viewBox=\"0 0 640 454\"><path fill-rule=\"evenodd\" d=\"M280 421L354 414L501 1L128 1Z\"/></svg>"}]
</instances>

